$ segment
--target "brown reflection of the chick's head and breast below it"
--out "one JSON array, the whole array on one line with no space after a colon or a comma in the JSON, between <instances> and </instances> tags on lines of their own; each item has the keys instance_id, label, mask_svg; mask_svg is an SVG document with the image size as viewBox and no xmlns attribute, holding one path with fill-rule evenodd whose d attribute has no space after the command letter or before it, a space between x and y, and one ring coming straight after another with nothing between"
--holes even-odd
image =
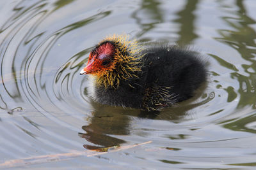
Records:
<instances>
[{"instance_id":1,"label":"brown reflection of the chick's head and breast below it","mask_svg":"<svg viewBox=\"0 0 256 170\"><path fill-rule=\"evenodd\" d=\"M122 108L112 108L109 106L101 106L93 104L95 111L90 117L90 124L84 125L82 129L86 134L80 134L81 138L90 141L92 145L84 145L86 149L106 148L110 146L118 146L125 143L124 140L111 137L111 135L129 135L130 118L125 115L125 110Z\"/></svg>"}]
</instances>

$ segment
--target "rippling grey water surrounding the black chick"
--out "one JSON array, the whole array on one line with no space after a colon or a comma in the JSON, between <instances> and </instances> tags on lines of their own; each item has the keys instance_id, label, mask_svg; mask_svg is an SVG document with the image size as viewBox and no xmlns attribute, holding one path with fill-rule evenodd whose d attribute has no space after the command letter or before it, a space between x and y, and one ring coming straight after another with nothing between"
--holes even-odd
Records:
<instances>
[{"instance_id":1,"label":"rippling grey water surrounding the black chick","mask_svg":"<svg viewBox=\"0 0 256 170\"><path fill-rule=\"evenodd\" d=\"M255 9L253 0L1 1L0 168L256 166ZM114 33L191 46L209 62L206 89L152 115L93 103L79 71Z\"/></svg>"}]
</instances>

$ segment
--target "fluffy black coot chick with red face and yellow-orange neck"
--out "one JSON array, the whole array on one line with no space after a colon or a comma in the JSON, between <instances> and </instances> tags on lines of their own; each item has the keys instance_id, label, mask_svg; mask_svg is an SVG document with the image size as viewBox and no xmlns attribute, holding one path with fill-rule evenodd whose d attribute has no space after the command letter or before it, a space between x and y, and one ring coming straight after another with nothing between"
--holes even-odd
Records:
<instances>
[{"instance_id":1,"label":"fluffy black coot chick with red face and yellow-orange neck","mask_svg":"<svg viewBox=\"0 0 256 170\"><path fill-rule=\"evenodd\" d=\"M157 111L192 97L206 72L195 52L169 45L144 49L114 35L95 45L80 74L92 74L91 95L99 103Z\"/></svg>"}]
</instances>

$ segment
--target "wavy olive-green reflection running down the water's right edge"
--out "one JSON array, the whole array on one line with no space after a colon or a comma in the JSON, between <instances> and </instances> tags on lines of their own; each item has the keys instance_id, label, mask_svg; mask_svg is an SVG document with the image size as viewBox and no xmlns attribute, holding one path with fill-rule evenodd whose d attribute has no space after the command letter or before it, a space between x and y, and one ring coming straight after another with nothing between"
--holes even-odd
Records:
<instances>
[{"instance_id":1,"label":"wavy olive-green reflection running down the water's right edge","mask_svg":"<svg viewBox=\"0 0 256 170\"><path fill-rule=\"evenodd\" d=\"M220 29L220 38L218 41L229 45L231 48L236 50L240 56L248 61L244 62L239 66L234 66L232 64L222 64L225 63L221 61L222 66L231 68L233 72L230 73L232 79L239 82L239 88L234 89L234 87L227 87L225 90L228 92L228 102L237 99L237 93L239 94L239 103L237 104L237 109L246 108L246 106L252 106L253 109L256 108L256 32L251 27L255 24L255 20L247 15L246 8L244 7L245 1L236 1L237 10L234 13L232 11L233 17L222 17L223 21L229 25L230 30ZM227 3L220 3L221 6L227 6ZM217 57L214 57L217 59ZM218 59L219 60L219 59ZM236 59L234 59L236 60ZM231 67L229 67L231 66ZM254 129L246 128L246 124L255 122L255 113L250 113L248 117L244 118L232 118L230 120L225 120L224 127L232 129L233 131L246 131L255 133ZM227 123L229 122L229 123Z\"/></svg>"}]
</instances>

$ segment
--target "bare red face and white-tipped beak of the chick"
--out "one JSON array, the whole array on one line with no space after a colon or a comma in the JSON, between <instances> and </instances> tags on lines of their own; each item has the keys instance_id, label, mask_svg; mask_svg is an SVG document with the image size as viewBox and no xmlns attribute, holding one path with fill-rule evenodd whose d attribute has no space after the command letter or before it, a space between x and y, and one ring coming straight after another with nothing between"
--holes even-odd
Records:
<instances>
[{"instance_id":1,"label":"bare red face and white-tipped beak of the chick","mask_svg":"<svg viewBox=\"0 0 256 170\"><path fill-rule=\"evenodd\" d=\"M89 55L89 60L80 74L96 74L113 69L115 46L111 43L104 43L97 47Z\"/></svg>"}]
</instances>

